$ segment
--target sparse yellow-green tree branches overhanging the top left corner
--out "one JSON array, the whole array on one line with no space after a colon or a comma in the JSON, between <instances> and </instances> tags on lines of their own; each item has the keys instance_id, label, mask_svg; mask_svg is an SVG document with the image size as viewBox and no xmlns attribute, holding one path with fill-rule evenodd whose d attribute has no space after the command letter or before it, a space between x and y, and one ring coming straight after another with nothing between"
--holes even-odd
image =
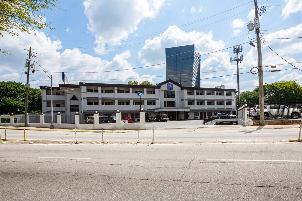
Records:
<instances>
[{"instance_id":1,"label":"sparse yellow-green tree branches overhanging the top left corner","mask_svg":"<svg viewBox=\"0 0 302 201\"><path fill-rule=\"evenodd\" d=\"M58 0L0 0L0 35L9 33L18 36L18 31L30 34L35 29L44 29L51 23L43 19L43 11L51 11L57 6ZM0 49L4 55L9 52Z\"/></svg>"}]
</instances>

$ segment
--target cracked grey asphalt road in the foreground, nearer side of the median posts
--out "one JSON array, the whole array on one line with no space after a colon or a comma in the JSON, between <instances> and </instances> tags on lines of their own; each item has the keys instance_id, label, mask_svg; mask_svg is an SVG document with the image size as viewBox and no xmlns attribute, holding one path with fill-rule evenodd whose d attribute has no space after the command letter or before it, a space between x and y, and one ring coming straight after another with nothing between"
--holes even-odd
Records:
<instances>
[{"instance_id":1,"label":"cracked grey asphalt road in the foreground, nearer side of the median posts","mask_svg":"<svg viewBox=\"0 0 302 201\"><path fill-rule=\"evenodd\" d=\"M301 200L301 152L297 143L0 144L0 199Z\"/></svg>"}]
</instances>

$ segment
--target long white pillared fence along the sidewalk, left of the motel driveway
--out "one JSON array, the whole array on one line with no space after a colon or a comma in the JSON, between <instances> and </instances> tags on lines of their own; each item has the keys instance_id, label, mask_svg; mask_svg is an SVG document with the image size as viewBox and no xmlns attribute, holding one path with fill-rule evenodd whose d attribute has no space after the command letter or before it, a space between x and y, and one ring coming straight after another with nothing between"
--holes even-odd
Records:
<instances>
[{"instance_id":1,"label":"long white pillared fence along the sidewalk, left of the motel driveway","mask_svg":"<svg viewBox=\"0 0 302 201\"><path fill-rule=\"evenodd\" d=\"M94 124L80 124L79 120L80 115L74 116L74 123L62 124L62 116L54 115L56 121L53 121L54 128L67 128L67 129L95 129L101 130L102 128L105 130L137 130L139 127L141 130L146 129L146 119L145 112L140 112L140 122L134 123L122 123L120 113L116 113L116 123L110 124L100 124L99 114L94 115L94 119L97 120ZM0 115L0 118L10 119L10 123L0 123L1 126L24 126L24 115ZM15 119L17 122L15 123ZM32 123L30 120L34 120L35 123ZM37 117L28 118L28 127L42 127L42 128L50 128L50 123L45 123L45 115L39 115L39 121ZM6 121L8 122L8 121ZM39 122L39 123L36 123Z\"/></svg>"}]
</instances>

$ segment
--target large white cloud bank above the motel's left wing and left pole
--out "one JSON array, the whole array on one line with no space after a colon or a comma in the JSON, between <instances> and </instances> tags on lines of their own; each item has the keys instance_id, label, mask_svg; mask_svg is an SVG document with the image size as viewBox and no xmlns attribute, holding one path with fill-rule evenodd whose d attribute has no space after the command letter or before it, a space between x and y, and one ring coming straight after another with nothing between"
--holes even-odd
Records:
<instances>
[{"instance_id":1,"label":"large white cloud bank above the motel's left wing and left pole","mask_svg":"<svg viewBox=\"0 0 302 201\"><path fill-rule=\"evenodd\" d=\"M61 73L62 71L67 72L66 75L70 83L79 83L79 81L72 80L90 80L85 82L99 82L99 83L127 83L129 78L141 77L133 68L134 66L130 64L127 59L130 58L130 51L124 51L120 54L116 54L112 60L104 60L100 57L94 57L81 51L77 48L75 49L66 49L62 53L57 52L56 50L61 49L61 41L56 40L52 41L47 37L43 32L35 31L34 34L28 35L27 33L20 32L19 37L14 37L6 35L5 38L0 38L0 43L3 49L12 52L14 56L0 55L2 61L2 74L0 79L7 79L16 74L19 74L23 71L25 58L24 56L28 54L27 51L29 47L34 48L34 52L37 52L37 57L35 61L40 63L43 68L48 71L54 71L59 73L50 73L53 76L53 85L62 83ZM45 49L53 49L50 52L43 52ZM41 53L41 55L40 55ZM43 54L46 53L46 54ZM95 71L111 71L111 70L121 70L129 69L125 71L115 71L112 72L103 72L103 73L88 73ZM13 70L11 70L13 69ZM78 70L72 70L78 69ZM10 70L10 73L7 73ZM39 68L38 65L35 66L36 72L31 74L31 80L49 80L46 74ZM79 74L72 74L69 72L81 72ZM146 76L149 77L149 76ZM24 78L24 79L23 79ZM117 78L123 78L122 80L114 80ZM11 80L19 81L20 77L15 77ZM104 80L112 79L112 80ZM21 81L24 82L25 76L22 77ZM95 81L102 80L102 81ZM131 79L132 80L132 79ZM152 79L148 78L148 81L154 83ZM35 83L39 85L50 85L50 81L34 81L32 82L32 87L39 87L34 85Z\"/></svg>"}]
</instances>

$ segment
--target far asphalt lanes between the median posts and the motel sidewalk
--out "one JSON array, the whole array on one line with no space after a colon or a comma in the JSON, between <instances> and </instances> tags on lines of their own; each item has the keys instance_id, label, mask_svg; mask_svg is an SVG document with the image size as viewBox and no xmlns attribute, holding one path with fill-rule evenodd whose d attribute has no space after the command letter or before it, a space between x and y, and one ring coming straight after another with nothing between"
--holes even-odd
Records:
<instances>
[{"instance_id":1,"label":"far asphalt lanes between the median posts and the motel sidewalk","mask_svg":"<svg viewBox=\"0 0 302 201\"><path fill-rule=\"evenodd\" d=\"M154 141L203 141L203 140L289 140L297 139L299 128L283 129L252 129L210 131L205 128L198 129L165 129L155 130ZM2 129L2 137L4 132ZM7 130L8 139L24 139L23 130ZM28 140L75 140L74 132L61 131L35 131L26 130ZM77 132L78 141L101 141L101 133ZM152 130L140 130L140 141L150 142ZM104 141L137 142L137 131L125 133L104 133Z\"/></svg>"}]
</instances>

